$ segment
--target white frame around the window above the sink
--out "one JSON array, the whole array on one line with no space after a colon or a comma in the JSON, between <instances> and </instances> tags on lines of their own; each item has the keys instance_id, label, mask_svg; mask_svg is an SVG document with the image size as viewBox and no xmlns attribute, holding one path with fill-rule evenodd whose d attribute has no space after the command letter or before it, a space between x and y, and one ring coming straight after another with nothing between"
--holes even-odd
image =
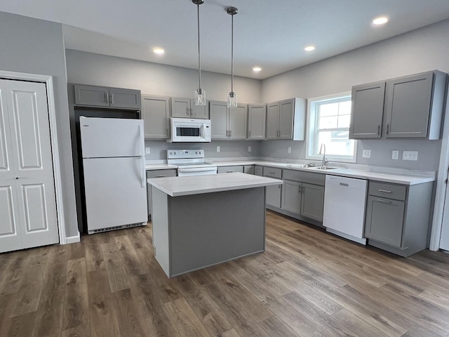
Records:
<instances>
[{"instance_id":1,"label":"white frame around the window above the sink","mask_svg":"<svg viewBox=\"0 0 449 337\"><path fill-rule=\"evenodd\" d=\"M321 154L314 154L314 148L316 148L316 143L318 141L316 130L318 129L318 119L317 112L314 107L315 103L332 101L332 100L342 100L343 98L351 99L351 91L344 93L337 93L335 95L326 95L316 98L309 98L307 100L307 130L306 130L306 159L311 160L321 160L323 156ZM349 128L349 127L348 127ZM339 129L339 128L337 128ZM351 157L349 156L335 156L331 154L326 154L326 158L330 161L341 162L341 163L355 163L357 161L357 140L354 140L354 152Z\"/></svg>"}]
</instances>

